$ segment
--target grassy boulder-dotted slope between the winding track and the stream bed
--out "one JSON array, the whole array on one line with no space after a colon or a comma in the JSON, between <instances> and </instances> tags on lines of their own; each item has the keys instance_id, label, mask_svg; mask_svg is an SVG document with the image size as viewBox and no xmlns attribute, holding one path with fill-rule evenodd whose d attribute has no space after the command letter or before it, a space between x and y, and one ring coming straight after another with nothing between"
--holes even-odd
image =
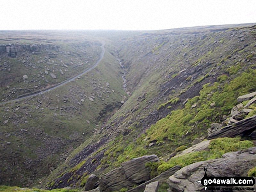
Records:
<instances>
[{"instance_id":1,"label":"grassy boulder-dotted slope between the winding track and the stream bed","mask_svg":"<svg viewBox=\"0 0 256 192\"><path fill-rule=\"evenodd\" d=\"M126 96L119 71L119 63L106 51L98 67L80 79L43 95L0 106L1 182L31 184L99 131L104 118ZM91 97L94 101L89 100Z\"/></svg>"}]
</instances>

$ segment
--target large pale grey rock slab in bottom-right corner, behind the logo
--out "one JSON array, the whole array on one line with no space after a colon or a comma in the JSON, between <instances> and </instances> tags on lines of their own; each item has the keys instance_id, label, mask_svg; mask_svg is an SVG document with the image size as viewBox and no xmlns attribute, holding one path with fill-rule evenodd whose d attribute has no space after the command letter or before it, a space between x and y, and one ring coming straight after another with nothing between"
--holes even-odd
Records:
<instances>
[{"instance_id":1,"label":"large pale grey rock slab in bottom-right corner, behind the logo","mask_svg":"<svg viewBox=\"0 0 256 192\"><path fill-rule=\"evenodd\" d=\"M208 176L247 176L249 169L256 165L256 147L240 152L229 152L223 158L197 162L181 168L167 180L171 191L201 192L204 186L198 183L207 168ZM239 167L239 168L238 168Z\"/></svg>"}]
</instances>

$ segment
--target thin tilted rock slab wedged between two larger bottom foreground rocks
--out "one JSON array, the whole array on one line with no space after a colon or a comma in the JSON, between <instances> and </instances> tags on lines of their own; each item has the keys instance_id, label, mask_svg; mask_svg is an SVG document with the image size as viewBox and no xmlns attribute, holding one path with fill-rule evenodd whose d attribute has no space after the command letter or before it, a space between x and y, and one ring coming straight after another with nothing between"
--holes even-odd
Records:
<instances>
[{"instance_id":1,"label":"thin tilted rock slab wedged between two larger bottom foreground rocks","mask_svg":"<svg viewBox=\"0 0 256 192\"><path fill-rule=\"evenodd\" d=\"M171 175L173 175L175 172L177 172L179 169L181 169L180 166L176 165L170 169L168 169L167 171L161 173L160 175L156 176L153 179L150 179L149 181L140 184L139 186L128 190L127 192L139 192L139 191L143 191L146 187L147 184L150 184L152 182L158 181L158 182L165 182L166 179L168 179L168 177L170 177Z\"/></svg>"}]
</instances>

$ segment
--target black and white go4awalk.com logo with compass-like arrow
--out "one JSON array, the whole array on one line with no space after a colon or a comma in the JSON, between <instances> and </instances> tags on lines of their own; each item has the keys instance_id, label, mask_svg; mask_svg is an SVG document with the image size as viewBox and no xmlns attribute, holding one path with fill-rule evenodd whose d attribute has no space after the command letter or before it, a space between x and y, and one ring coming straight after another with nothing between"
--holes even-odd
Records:
<instances>
[{"instance_id":1,"label":"black and white go4awalk.com logo with compass-like arrow","mask_svg":"<svg viewBox=\"0 0 256 192\"><path fill-rule=\"evenodd\" d=\"M208 177L207 170L205 170L204 177L198 181L206 189L210 190L242 190L242 191L253 191L255 180L253 177Z\"/></svg>"}]
</instances>

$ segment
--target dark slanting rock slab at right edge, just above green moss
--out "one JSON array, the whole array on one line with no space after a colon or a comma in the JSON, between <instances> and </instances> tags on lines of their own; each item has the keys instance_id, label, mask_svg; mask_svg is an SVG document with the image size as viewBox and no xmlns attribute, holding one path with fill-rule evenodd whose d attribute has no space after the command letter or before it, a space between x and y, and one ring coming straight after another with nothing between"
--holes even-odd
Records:
<instances>
[{"instance_id":1,"label":"dark slanting rock slab at right edge, just above green moss","mask_svg":"<svg viewBox=\"0 0 256 192\"><path fill-rule=\"evenodd\" d=\"M207 139L219 137L236 137L236 136L249 136L256 130L256 115L237 121L232 125L228 125L214 134L210 135Z\"/></svg>"}]
</instances>

